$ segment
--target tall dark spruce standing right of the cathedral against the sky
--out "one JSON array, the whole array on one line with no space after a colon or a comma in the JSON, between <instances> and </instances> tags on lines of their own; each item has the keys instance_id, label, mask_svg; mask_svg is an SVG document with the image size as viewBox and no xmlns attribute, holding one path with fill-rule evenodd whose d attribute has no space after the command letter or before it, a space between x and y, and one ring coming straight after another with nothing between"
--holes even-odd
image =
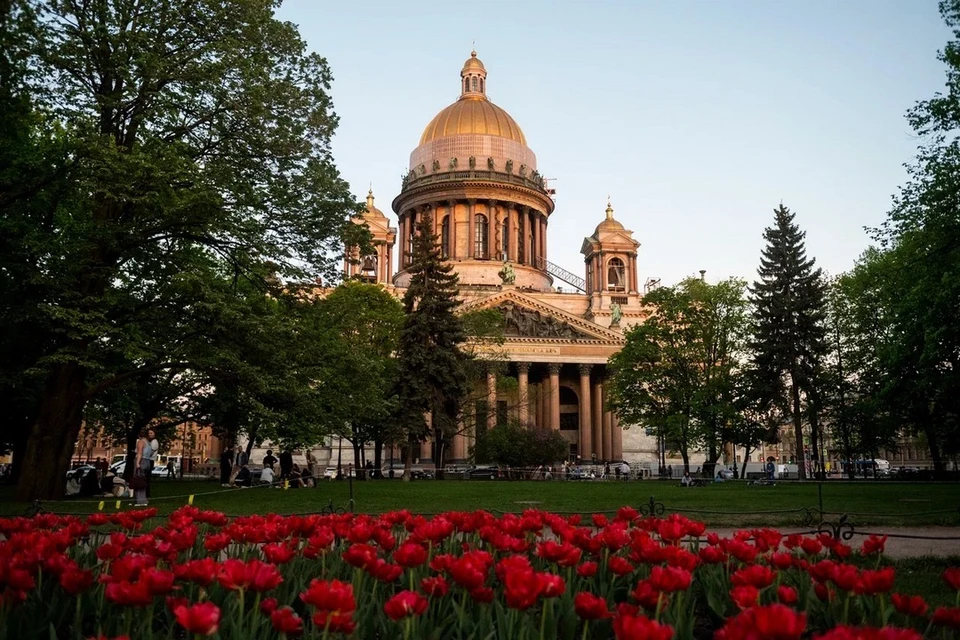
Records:
<instances>
[{"instance_id":1,"label":"tall dark spruce standing right of the cathedral against the sky","mask_svg":"<svg viewBox=\"0 0 960 640\"><path fill-rule=\"evenodd\" d=\"M766 379L763 388L770 394L789 393L797 465L800 478L806 479L801 397L809 402L816 396L817 372L826 350L826 287L821 270L814 268L816 260L807 258L806 233L794 224L795 214L781 204L774 216L773 226L763 232L767 246L757 270L760 279L750 288L753 368ZM811 433L814 461L819 459L816 432L814 428Z\"/></svg>"}]
</instances>

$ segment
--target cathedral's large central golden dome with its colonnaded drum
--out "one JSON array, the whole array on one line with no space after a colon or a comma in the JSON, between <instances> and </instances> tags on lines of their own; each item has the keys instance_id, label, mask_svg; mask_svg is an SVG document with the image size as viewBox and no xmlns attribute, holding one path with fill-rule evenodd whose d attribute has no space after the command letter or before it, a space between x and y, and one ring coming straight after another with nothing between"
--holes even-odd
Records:
<instances>
[{"instance_id":1,"label":"cathedral's large central golden dome with its colonnaded drum","mask_svg":"<svg viewBox=\"0 0 960 640\"><path fill-rule=\"evenodd\" d=\"M393 201L400 241L394 284L407 286L414 228L429 214L462 287L499 285L498 272L510 262L518 287L548 291L554 204L537 158L516 121L488 99L487 70L476 51L460 70L459 86L459 99L424 129Z\"/></svg>"}]
</instances>

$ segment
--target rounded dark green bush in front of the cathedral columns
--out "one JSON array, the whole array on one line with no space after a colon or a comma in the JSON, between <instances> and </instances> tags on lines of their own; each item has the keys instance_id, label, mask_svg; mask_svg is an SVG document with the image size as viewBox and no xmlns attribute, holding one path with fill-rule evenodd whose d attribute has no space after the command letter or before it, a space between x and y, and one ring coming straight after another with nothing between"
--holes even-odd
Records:
<instances>
[{"instance_id":1,"label":"rounded dark green bush in front of the cathedral columns","mask_svg":"<svg viewBox=\"0 0 960 640\"><path fill-rule=\"evenodd\" d=\"M553 465L566 460L569 443L552 429L498 424L479 438L473 448L478 463L496 463L512 468Z\"/></svg>"}]
</instances>

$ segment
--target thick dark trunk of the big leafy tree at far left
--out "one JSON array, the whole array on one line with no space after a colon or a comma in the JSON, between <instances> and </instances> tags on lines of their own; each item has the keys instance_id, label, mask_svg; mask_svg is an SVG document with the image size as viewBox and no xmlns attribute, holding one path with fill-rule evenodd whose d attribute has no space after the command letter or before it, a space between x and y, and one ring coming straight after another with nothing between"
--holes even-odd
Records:
<instances>
[{"instance_id":1,"label":"thick dark trunk of the big leafy tree at far left","mask_svg":"<svg viewBox=\"0 0 960 640\"><path fill-rule=\"evenodd\" d=\"M67 362L47 379L23 453L17 500L58 500L66 489L73 448L83 425L84 371Z\"/></svg>"}]
</instances>

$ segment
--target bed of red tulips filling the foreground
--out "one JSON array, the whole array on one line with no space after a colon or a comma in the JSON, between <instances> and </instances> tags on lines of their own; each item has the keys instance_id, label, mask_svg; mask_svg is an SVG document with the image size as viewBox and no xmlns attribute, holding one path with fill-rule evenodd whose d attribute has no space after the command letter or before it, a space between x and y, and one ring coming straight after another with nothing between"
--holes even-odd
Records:
<instances>
[{"instance_id":1,"label":"bed of red tulips filling the foreground","mask_svg":"<svg viewBox=\"0 0 960 640\"><path fill-rule=\"evenodd\" d=\"M682 516L0 520L0 638L954 638L892 593L884 539L706 535ZM856 560L856 562L853 562Z\"/></svg>"}]
</instances>

